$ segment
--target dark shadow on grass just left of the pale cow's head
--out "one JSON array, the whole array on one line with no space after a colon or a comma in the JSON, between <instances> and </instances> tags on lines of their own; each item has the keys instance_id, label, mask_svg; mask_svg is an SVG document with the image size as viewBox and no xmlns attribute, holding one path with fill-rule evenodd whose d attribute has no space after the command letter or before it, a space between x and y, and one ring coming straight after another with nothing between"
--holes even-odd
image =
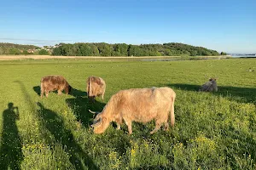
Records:
<instances>
[{"instance_id":1,"label":"dark shadow on grass just left of the pale cow's head","mask_svg":"<svg viewBox=\"0 0 256 170\"><path fill-rule=\"evenodd\" d=\"M99 101L95 100L95 103L91 103L89 99L86 98L75 98L75 99L66 99L67 105L72 109L74 115L77 117L78 122L82 122L84 127L90 126L93 122L94 114L90 111L102 111L103 107L106 105Z\"/></svg>"}]
</instances>

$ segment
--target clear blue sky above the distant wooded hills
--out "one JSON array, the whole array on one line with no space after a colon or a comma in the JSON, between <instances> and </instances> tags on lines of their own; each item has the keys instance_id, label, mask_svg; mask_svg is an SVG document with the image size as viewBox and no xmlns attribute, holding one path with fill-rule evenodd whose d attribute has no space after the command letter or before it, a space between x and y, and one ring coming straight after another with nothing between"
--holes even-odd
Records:
<instances>
[{"instance_id":1,"label":"clear blue sky above the distant wooded hills","mask_svg":"<svg viewBox=\"0 0 256 170\"><path fill-rule=\"evenodd\" d=\"M256 53L256 0L9 0L0 42L182 42Z\"/></svg>"}]
</instances>

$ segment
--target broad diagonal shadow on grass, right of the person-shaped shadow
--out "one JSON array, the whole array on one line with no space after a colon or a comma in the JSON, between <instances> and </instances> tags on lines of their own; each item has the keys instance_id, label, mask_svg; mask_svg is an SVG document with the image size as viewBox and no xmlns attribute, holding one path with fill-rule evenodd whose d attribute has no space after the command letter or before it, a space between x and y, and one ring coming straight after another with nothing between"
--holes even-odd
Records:
<instances>
[{"instance_id":1,"label":"broad diagonal shadow on grass, right of the person-shaped shadow","mask_svg":"<svg viewBox=\"0 0 256 170\"><path fill-rule=\"evenodd\" d=\"M55 111L51 111L38 102L40 107L39 114L44 118L44 126L52 133L55 140L67 147L67 152L70 154L70 161L76 169L99 169L94 161L84 153L82 148L73 138L73 133L64 126L64 121L61 116L58 116ZM86 167L84 167L84 165Z\"/></svg>"}]
</instances>

